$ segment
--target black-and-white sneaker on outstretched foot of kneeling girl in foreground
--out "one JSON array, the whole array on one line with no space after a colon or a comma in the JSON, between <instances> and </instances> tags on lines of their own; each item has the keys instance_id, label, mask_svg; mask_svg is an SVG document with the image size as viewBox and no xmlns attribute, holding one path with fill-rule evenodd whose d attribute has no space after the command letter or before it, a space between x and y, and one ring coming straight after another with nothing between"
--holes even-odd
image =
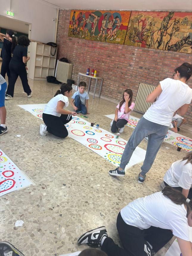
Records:
<instances>
[{"instance_id":1,"label":"black-and-white sneaker on outstretched foot of kneeling girl in foreground","mask_svg":"<svg viewBox=\"0 0 192 256\"><path fill-rule=\"evenodd\" d=\"M96 248L101 245L101 240L103 237L107 237L107 230L104 226L86 232L79 237L78 243L87 243L88 246Z\"/></svg>"}]
</instances>

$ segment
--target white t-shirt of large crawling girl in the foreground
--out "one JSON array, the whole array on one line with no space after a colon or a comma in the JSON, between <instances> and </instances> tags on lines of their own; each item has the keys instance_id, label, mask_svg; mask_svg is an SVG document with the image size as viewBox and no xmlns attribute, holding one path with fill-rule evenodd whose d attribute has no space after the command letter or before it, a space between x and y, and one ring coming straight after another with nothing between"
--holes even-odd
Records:
<instances>
[{"instance_id":1,"label":"white t-shirt of large crawling girl in the foreground","mask_svg":"<svg viewBox=\"0 0 192 256\"><path fill-rule=\"evenodd\" d=\"M187 211L184 205L176 205L162 192L138 198L121 210L125 223L147 229L151 226L173 230L173 234L189 240Z\"/></svg>"}]
</instances>

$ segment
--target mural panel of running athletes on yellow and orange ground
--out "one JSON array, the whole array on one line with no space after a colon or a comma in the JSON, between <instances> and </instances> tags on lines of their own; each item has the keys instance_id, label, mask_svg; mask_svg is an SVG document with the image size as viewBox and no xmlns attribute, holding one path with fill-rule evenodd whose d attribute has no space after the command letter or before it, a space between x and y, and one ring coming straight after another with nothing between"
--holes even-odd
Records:
<instances>
[{"instance_id":1,"label":"mural panel of running athletes on yellow and orange ground","mask_svg":"<svg viewBox=\"0 0 192 256\"><path fill-rule=\"evenodd\" d=\"M72 10L68 36L124 44L130 11Z\"/></svg>"}]
</instances>

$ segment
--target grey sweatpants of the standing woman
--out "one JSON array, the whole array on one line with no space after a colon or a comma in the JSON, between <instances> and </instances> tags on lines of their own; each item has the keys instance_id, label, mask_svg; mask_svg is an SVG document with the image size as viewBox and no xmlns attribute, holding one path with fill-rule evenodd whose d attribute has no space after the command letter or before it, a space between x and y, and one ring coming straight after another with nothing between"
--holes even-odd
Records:
<instances>
[{"instance_id":1,"label":"grey sweatpants of the standing woman","mask_svg":"<svg viewBox=\"0 0 192 256\"><path fill-rule=\"evenodd\" d=\"M143 138L149 135L145 160L141 166L141 175L144 176L152 167L157 152L159 151L163 139L168 132L168 128L168 126L153 123L142 117L138 121L136 128L125 146L125 150L121 157L120 167L125 169L125 166L129 163L135 148Z\"/></svg>"}]
</instances>

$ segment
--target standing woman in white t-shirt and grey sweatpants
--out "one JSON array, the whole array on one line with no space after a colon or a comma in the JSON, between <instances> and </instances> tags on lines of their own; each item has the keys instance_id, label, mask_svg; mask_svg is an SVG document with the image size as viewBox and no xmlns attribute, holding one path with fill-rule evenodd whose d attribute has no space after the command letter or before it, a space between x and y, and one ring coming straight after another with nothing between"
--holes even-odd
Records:
<instances>
[{"instance_id":1,"label":"standing woman in white t-shirt and grey sweatpants","mask_svg":"<svg viewBox=\"0 0 192 256\"><path fill-rule=\"evenodd\" d=\"M186 81L191 77L191 74L192 65L183 63L175 69L173 79L164 79L147 96L146 102L153 104L139 120L129 138L121 157L120 166L109 171L110 175L125 176L125 167L135 148L143 138L149 135L146 157L138 176L138 182L141 184L144 182L146 173L152 167L157 152L168 132L174 112L177 111L179 115L184 115L188 110L192 99L192 89L186 84Z\"/></svg>"}]
</instances>

